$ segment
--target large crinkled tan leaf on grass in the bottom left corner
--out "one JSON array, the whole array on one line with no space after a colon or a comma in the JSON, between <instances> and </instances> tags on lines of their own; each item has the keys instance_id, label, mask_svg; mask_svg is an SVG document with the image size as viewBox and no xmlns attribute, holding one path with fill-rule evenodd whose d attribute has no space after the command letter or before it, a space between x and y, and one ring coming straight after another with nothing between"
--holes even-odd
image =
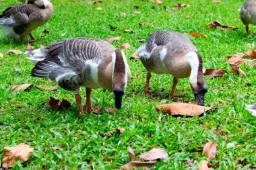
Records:
<instances>
[{"instance_id":1,"label":"large crinkled tan leaf on grass in the bottom left corner","mask_svg":"<svg viewBox=\"0 0 256 170\"><path fill-rule=\"evenodd\" d=\"M5 147L3 148L3 162L2 167L3 168L9 168L13 167L14 163L16 161L23 161L26 162L28 159L30 159L31 154L30 152L33 152L34 148L30 148L28 144L18 144L17 146L13 147Z\"/></svg>"}]
</instances>

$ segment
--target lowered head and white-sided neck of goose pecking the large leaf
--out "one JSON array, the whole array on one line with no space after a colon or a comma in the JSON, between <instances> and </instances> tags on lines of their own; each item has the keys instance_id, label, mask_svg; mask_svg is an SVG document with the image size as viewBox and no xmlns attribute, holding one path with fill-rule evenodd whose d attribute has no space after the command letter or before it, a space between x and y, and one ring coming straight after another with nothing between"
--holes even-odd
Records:
<instances>
[{"instance_id":1,"label":"lowered head and white-sided neck of goose pecking the large leaf","mask_svg":"<svg viewBox=\"0 0 256 170\"><path fill-rule=\"evenodd\" d=\"M208 89L203 77L203 59L199 52L189 52L187 56L189 56L189 63L191 65L189 81L195 95L195 101L197 104L204 105L204 95Z\"/></svg>"}]
</instances>

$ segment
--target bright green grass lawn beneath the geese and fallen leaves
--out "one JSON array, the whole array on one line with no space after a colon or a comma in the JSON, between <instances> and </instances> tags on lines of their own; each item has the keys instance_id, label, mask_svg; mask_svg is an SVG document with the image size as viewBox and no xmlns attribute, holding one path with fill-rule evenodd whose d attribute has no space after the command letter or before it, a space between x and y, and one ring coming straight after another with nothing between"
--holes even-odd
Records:
<instances>
[{"instance_id":1,"label":"bright green grass lawn beneath the geese and fallen leaves","mask_svg":"<svg viewBox=\"0 0 256 170\"><path fill-rule=\"evenodd\" d=\"M104 39L122 36L121 41L112 44L117 48L121 43L131 44L131 50L125 51L129 58L142 44L136 40L147 40L153 30L201 32L207 34L208 38L190 38L203 56L203 66L206 69L230 71L230 65L226 65L226 56L246 52L250 49L247 43L255 42L256 27L250 26L250 36L246 36L245 27L240 20L238 8L243 4L241 0L223 0L223 3L212 3L210 0L166 0L160 5L138 0L106 0L96 5L87 5L87 1L82 0L52 2L55 11L50 21L34 30L37 38L35 48L63 38L86 36ZM191 7L172 11L171 7L180 2L190 4ZM0 11L16 3L14 0L0 2ZM135 14L133 5L139 6L138 11L141 13ZM96 11L96 7L102 7L103 10ZM121 12L127 13L127 16L120 17ZM215 20L238 29L225 32L205 26ZM154 28L139 28L141 22L150 22ZM108 24L117 26L117 30L110 30ZM133 32L124 34L125 29ZM50 30L50 34L44 34L42 30ZM66 33L65 36L61 36L63 33ZM26 44L6 39L2 33L0 44L0 53L9 49L26 51ZM216 158L211 161L216 169L255 167L256 119L245 110L245 105L256 102L256 66L244 65L242 69L247 74L245 77L232 73L214 79L205 77L208 87L205 103L218 106L218 109L202 117L172 118L155 109L161 99L168 99L166 96L172 87L172 76L152 74L152 95L160 94L160 97L146 97L143 95L146 69L139 60L128 62L132 80L125 93L123 108L114 114L90 113L82 118L73 94L60 87L58 91L31 88L11 93L9 88L12 85L32 83L50 87L54 83L30 77L33 65L25 54L4 55L3 60L0 60L0 163L3 159L3 147L25 142L36 150L27 163L18 162L13 169L119 169L120 165L129 162L127 146L131 146L135 154L139 155L150 151L157 144L156 148L164 148L169 157L158 163L155 169L197 169L199 161L206 159L201 151L203 142L216 141L218 151ZM14 68L21 69L21 73L14 73ZM251 86L247 86L247 83ZM81 95L85 96L85 93L83 88ZM195 103L188 78L179 80L177 96L181 95L184 97L178 97L175 101ZM71 101L72 107L53 112L48 105L40 107L51 96ZM85 98L83 97L83 103ZM229 103L220 103L219 99ZM173 100L169 99L168 102L172 103ZM114 107L114 95L110 91L94 89L92 104ZM221 133L216 135L214 130L217 126ZM125 128L125 132L104 138L100 136L117 127ZM229 147L230 143L234 143L234 146ZM59 151L51 149L53 146L59 147Z\"/></svg>"}]
</instances>

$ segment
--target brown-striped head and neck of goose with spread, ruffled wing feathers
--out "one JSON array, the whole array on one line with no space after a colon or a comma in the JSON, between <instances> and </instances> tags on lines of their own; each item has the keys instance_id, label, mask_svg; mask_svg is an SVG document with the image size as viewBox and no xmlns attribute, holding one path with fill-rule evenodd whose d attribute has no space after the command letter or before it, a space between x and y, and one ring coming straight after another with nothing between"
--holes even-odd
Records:
<instances>
[{"instance_id":1,"label":"brown-striped head and neck of goose with spread, ruffled wing feathers","mask_svg":"<svg viewBox=\"0 0 256 170\"><path fill-rule=\"evenodd\" d=\"M115 50L112 57L112 86L115 94L115 107L120 109L122 106L122 97L130 79L129 66L123 51Z\"/></svg>"}]
</instances>

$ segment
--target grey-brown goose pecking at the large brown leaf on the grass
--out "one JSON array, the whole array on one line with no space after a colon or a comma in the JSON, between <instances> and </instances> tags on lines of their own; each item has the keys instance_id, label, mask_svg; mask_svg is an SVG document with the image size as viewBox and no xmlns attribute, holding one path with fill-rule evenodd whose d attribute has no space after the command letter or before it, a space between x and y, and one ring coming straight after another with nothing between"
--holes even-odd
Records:
<instances>
[{"instance_id":1,"label":"grey-brown goose pecking at the large brown leaf on the grass","mask_svg":"<svg viewBox=\"0 0 256 170\"><path fill-rule=\"evenodd\" d=\"M147 69L144 93L149 93L151 72L173 75L170 95L174 97L179 78L189 77L191 89L197 104L204 105L207 93L203 77L203 60L193 42L184 34L173 31L154 31L147 42L137 49L139 59Z\"/></svg>"}]
</instances>

